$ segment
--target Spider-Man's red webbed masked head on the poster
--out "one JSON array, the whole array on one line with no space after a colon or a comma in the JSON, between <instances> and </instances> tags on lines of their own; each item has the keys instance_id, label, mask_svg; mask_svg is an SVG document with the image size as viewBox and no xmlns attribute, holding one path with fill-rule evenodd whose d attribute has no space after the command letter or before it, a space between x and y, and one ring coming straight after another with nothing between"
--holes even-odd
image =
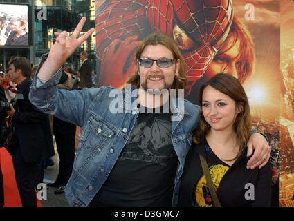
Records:
<instances>
[{"instance_id":1,"label":"Spider-Man's red webbed masked head on the poster","mask_svg":"<svg viewBox=\"0 0 294 221\"><path fill-rule=\"evenodd\" d=\"M213 43L230 27L231 1L151 0L148 10L151 27L172 35L176 24L196 42L190 50L182 50L189 81L187 88L192 88L217 54Z\"/></svg>"}]
</instances>

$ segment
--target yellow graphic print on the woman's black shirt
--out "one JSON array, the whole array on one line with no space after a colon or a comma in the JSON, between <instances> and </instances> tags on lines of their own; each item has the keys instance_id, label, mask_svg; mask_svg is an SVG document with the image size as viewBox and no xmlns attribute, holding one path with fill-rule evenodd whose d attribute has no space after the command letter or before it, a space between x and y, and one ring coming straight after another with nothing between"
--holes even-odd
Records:
<instances>
[{"instance_id":1,"label":"yellow graphic print on the woman's black shirt","mask_svg":"<svg viewBox=\"0 0 294 221\"><path fill-rule=\"evenodd\" d=\"M219 188L219 183L223 178L223 175L228 171L229 167L221 164L217 164L210 167L210 175L212 177L212 182L216 189ZM208 185L206 184L206 179L203 176L200 178L198 184L195 189L195 198L198 206L200 207L212 207L212 197L210 195L210 191L208 189Z\"/></svg>"}]
</instances>

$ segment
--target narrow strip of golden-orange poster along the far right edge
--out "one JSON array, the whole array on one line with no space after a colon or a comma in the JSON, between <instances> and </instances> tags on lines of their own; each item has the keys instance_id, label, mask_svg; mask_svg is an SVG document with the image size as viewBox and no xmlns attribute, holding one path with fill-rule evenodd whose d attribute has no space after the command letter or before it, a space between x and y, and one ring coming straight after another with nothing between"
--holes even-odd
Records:
<instances>
[{"instance_id":1,"label":"narrow strip of golden-orange poster along the far right edge","mask_svg":"<svg viewBox=\"0 0 294 221\"><path fill-rule=\"evenodd\" d=\"M294 1L281 3L280 206L294 207Z\"/></svg>"}]
</instances>

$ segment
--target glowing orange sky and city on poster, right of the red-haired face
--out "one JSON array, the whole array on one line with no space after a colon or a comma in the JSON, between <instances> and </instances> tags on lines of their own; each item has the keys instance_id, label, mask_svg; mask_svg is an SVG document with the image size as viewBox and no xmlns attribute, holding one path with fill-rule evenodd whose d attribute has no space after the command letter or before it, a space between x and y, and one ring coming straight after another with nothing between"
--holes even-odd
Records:
<instances>
[{"instance_id":1,"label":"glowing orange sky and city on poster, right of the red-haired face","mask_svg":"<svg viewBox=\"0 0 294 221\"><path fill-rule=\"evenodd\" d=\"M246 4L252 4L255 19L245 19ZM255 70L243 86L250 102L253 128L265 133L272 148L272 205L279 206L279 141L280 141L280 13L279 1L233 1L235 16L250 31L255 44Z\"/></svg>"}]
</instances>

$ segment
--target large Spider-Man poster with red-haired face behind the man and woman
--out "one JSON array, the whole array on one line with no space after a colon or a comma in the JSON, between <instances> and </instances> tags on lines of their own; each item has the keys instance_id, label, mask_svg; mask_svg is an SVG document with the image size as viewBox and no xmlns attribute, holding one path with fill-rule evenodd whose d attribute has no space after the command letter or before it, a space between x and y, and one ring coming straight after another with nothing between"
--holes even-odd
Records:
<instances>
[{"instance_id":1,"label":"large Spider-Man poster with red-haired face behind the man and woman","mask_svg":"<svg viewBox=\"0 0 294 221\"><path fill-rule=\"evenodd\" d=\"M253 128L272 147L273 206L278 206L279 1L96 0L95 10L98 86L123 88L136 68L140 41L158 30L183 54L186 99L198 104L200 86L217 73L239 79L250 99Z\"/></svg>"}]
</instances>

